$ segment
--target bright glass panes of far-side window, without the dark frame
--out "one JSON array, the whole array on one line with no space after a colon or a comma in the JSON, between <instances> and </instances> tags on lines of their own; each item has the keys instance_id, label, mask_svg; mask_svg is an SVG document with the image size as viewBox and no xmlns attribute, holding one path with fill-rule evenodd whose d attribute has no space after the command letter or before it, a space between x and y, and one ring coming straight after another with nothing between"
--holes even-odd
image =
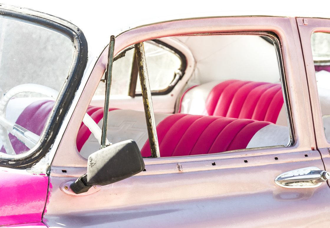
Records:
<instances>
[{"instance_id":1,"label":"bright glass panes of far-side window, without the dark frame","mask_svg":"<svg viewBox=\"0 0 330 228\"><path fill-rule=\"evenodd\" d=\"M146 61L148 61L148 75L150 89L154 92L163 92L168 89L176 76L180 76L182 60L173 50L153 41L144 43ZM124 55L123 55L124 54ZM111 95L128 95L132 74L134 49L131 47L115 58L112 69ZM118 56L118 55L117 55ZM138 73L137 73L138 74ZM103 77L104 78L104 77ZM105 83L100 82L95 95L104 95ZM136 94L141 94L139 77L137 77Z\"/></svg>"}]
</instances>

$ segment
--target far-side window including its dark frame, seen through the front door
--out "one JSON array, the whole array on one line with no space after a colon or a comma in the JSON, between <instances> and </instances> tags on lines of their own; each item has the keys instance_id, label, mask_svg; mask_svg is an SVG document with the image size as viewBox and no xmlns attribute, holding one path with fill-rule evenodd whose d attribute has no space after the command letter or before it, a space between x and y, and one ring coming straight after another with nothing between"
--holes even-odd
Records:
<instances>
[{"instance_id":1,"label":"far-side window including its dark frame, seen through the front door","mask_svg":"<svg viewBox=\"0 0 330 228\"><path fill-rule=\"evenodd\" d=\"M144 43L150 89L152 94L166 94L175 86L184 74L185 57L180 50L160 41L152 40ZM141 95L139 72L135 64L133 46L128 47L114 59L112 69L111 95ZM104 77L103 77L104 78ZM105 83L100 82L95 95L104 95Z\"/></svg>"}]
</instances>

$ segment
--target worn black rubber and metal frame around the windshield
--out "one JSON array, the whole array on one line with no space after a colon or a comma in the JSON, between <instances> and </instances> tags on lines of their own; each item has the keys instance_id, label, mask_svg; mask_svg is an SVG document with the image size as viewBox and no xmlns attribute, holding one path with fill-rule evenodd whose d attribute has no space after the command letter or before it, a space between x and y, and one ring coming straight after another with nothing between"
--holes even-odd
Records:
<instances>
[{"instance_id":1,"label":"worn black rubber and metal frame around the windshield","mask_svg":"<svg viewBox=\"0 0 330 228\"><path fill-rule=\"evenodd\" d=\"M55 101L52 114L48 117L45 129L38 144L28 152L18 154L14 158L0 159L0 166L26 169L35 165L51 148L61 127L68 108L80 85L87 64L87 41L82 31L72 23L41 12L9 5L0 5L3 16L9 16L22 21L46 27L67 36L74 44L73 64L59 96Z\"/></svg>"}]
</instances>

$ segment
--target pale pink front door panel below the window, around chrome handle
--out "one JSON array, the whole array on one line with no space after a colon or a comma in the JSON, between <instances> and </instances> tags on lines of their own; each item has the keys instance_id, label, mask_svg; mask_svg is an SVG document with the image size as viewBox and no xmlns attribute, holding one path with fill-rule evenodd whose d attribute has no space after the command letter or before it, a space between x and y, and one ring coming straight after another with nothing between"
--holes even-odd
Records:
<instances>
[{"instance_id":1,"label":"pale pink front door panel below the window, around chrome handle","mask_svg":"<svg viewBox=\"0 0 330 228\"><path fill-rule=\"evenodd\" d=\"M322 206L313 208L315 212L326 210L330 205L330 200L324 199L330 193L328 186L290 189L278 186L274 179L291 169L323 169L319 153L283 153L278 157L275 160L272 155L251 156L246 158L248 163L243 158L181 162L182 171L177 163L146 165L145 172L102 186L88 196L70 196L53 188L44 222L50 227L59 220L72 227L200 227L203 222L210 227L285 226L292 220L295 225L313 225L319 220L312 220L306 208L317 202ZM293 157L296 161L288 163ZM74 178L55 176L51 183L59 186L70 179ZM274 223L273 216L292 211L301 216L299 222L283 216ZM253 218L253 223L246 223L248 218Z\"/></svg>"}]
</instances>

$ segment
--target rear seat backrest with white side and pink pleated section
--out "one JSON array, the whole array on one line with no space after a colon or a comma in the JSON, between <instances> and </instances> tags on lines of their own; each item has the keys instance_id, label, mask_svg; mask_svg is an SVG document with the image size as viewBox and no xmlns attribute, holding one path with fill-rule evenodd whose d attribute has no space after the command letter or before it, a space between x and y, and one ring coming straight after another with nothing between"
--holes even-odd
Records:
<instances>
[{"instance_id":1,"label":"rear seat backrest with white side and pink pleated section","mask_svg":"<svg viewBox=\"0 0 330 228\"><path fill-rule=\"evenodd\" d=\"M276 123L283 103L281 84L227 80L192 87L183 94L179 112Z\"/></svg>"}]
</instances>

